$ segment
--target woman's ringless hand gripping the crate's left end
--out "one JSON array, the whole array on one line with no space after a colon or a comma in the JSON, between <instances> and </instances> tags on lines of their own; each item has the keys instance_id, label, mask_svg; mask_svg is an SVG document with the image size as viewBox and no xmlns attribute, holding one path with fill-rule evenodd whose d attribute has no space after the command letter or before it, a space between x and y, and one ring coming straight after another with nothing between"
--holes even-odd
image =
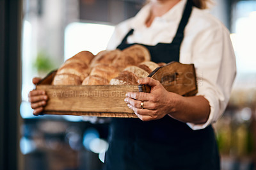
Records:
<instances>
[{"instance_id":1,"label":"woman's ringless hand gripping the crate's left end","mask_svg":"<svg viewBox=\"0 0 256 170\"><path fill-rule=\"evenodd\" d=\"M37 84L41 79L38 77L33 78L33 84ZM28 94L29 102L31 103L31 108L34 109L33 114L38 116L40 112L44 110L44 106L47 102L47 95L44 90L33 89Z\"/></svg>"}]
</instances>

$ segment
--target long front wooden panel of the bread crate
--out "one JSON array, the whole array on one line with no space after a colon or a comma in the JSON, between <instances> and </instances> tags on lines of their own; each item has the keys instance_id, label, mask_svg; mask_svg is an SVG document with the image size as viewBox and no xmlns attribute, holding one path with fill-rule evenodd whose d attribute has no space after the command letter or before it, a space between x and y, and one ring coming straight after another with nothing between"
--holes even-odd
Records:
<instances>
[{"instance_id":1,"label":"long front wooden panel of the bread crate","mask_svg":"<svg viewBox=\"0 0 256 170\"><path fill-rule=\"evenodd\" d=\"M36 89L44 89L49 100L45 106L46 112L117 112L133 113L124 102L127 91L139 91L138 86L104 85L104 86L50 86L40 85ZM77 115L76 114L76 115ZM83 115L88 115L83 114ZM107 114L104 114L107 115Z\"/></svg>"}]
</instances>

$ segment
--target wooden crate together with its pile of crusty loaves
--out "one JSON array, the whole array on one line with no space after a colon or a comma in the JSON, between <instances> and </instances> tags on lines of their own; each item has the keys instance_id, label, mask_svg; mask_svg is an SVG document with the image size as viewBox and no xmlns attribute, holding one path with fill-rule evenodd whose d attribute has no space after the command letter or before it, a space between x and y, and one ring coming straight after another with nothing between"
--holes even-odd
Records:
<instances>
[{"instance_id":1,"label":"wooden crate together with its pile of crusty loaves","mask_svg":"<svg viewBox=\"0 0 256 170\"><path fill-rule=\"evenodd\" d=\"M168 91L197 93L194 65L154 63L141 45L124 50L79 52L37 84L49 97L43 114L136 118L124 102L128 91L150 93L138 79L152 77ZM52 86L53 85L53 86Z\"/></svg>"}]
</instances>

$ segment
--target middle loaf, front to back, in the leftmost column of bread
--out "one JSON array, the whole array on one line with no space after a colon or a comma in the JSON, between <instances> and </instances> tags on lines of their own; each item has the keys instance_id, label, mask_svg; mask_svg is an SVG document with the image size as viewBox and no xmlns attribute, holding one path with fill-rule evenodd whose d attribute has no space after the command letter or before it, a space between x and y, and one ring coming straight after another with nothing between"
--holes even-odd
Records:
<instances>
[{"instance_id":1,"label":"middle loaf, front to back, in the leftmost column of bread","mask_svg":"<svg viewBox=\"0 0 256 170\"><path fill-rule=\"evenodd\" d=\"M74 74L82 82L89 75L89 68L85 63L64 63L57 71L58 74Z\"/></svg>"}]
</instances>

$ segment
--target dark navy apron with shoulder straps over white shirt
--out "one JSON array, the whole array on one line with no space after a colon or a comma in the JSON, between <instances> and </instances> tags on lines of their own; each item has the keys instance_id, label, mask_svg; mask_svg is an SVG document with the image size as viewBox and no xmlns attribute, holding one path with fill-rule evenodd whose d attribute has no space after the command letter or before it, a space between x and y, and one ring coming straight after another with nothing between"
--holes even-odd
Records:
<instances>
[{"instance_id":1,"label":"dark navy apron with shoulder straps over white shirt","mask_svg":"<svg viewBox=\"0 0 256 170\"><path fill-rule=\"evenodd\" d=\"M191 14L188 0L179 28L172 43L144 45L152 61L179 61L184 28ZM118 49L125 49L129 31ZM220 169L218 147L211 126L192 130L166 115L160 120L141 121L138 118L113 118L110 124L109 149L104 169Z\"/></svg>"}]
</instances>

